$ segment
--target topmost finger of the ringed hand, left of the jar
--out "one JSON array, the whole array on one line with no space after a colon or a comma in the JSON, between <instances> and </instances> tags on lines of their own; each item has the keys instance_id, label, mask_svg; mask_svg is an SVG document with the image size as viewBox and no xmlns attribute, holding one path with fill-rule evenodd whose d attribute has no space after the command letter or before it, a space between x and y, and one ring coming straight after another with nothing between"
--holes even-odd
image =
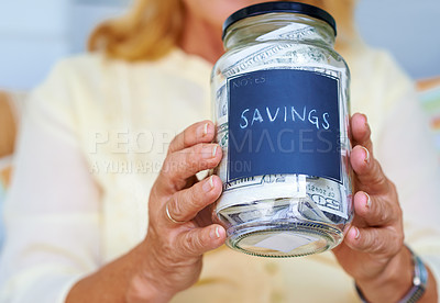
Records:
<instances>
[{"instance_id":1,"label":"topmost finger of the ringed hand, left of the jar","mask_svg":"<svg viewBox=\"0 0 440 303\"><path fill-rule=\"evenodd\" d=\"M205 120L197 122L173 138L168 147L168 154L194 146L198 143L212 142L213 135L215 125L211 121Z\"/></svg>"}]
</instances>

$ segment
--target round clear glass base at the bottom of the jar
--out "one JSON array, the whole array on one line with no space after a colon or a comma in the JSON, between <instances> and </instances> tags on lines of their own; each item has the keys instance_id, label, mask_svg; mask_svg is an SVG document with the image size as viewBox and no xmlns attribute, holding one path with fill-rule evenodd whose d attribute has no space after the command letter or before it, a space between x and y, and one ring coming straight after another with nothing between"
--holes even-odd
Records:
<instances>
[{"instance_id":1,"label":"round clear glass base at the bottom of the jar","mask_svg":"<svg viewBox=\"0 0 440 303\"><path fill-rule=\"evenodd\" d=\"M266 224L242 224L228 228L227 245L258 257L300 257L338 246L342 231L319 222L290 220Z\"/></svg>"}]
</instances>

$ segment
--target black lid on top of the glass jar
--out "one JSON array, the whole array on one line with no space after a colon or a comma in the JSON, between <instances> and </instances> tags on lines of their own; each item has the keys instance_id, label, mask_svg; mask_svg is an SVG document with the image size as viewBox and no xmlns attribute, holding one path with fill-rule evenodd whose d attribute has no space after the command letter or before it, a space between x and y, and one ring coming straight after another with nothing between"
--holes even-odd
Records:
<instances>
[{"instance_id":1,"label":"black lid on top of the glass jar","mask_svg":"<svg viewBox=\"0 0 440 303\"><path fill-rule=\"evenodd\" d=\"M241 10L238 10L237 12L231 14L223 23L223 37L228 27L231 26L237 21L240 21L248 16L254 16L265 13L277 13L277 12L300 13L322 20L333 29L334 35L337 35L337 23L334 22L334 19L331 16L331 14L329 14L324 10L300 2L276 1L276 2L264 2L250 5Z\"/></svg>"}]
</instances>

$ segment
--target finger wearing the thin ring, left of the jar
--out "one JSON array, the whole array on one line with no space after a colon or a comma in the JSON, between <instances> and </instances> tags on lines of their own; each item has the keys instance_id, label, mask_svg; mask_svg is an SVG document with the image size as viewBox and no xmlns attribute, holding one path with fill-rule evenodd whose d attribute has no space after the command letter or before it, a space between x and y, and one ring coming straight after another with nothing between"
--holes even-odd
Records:
<instances>
[{"instance_id":1,"label":"finger wearing the thin ring, left of the jar","mask_svg":"<svg viewBox=\"0 0 440 303\"><path fill-rule=\"evenodd\" d=\"M177 222L188 222L206 206L213 203L220 194L221 180L217 176L211 176L189 189L173 194L167 202L169 216ZM173 224L170 220L168 222Z\"/></svg>"}]
</instances>

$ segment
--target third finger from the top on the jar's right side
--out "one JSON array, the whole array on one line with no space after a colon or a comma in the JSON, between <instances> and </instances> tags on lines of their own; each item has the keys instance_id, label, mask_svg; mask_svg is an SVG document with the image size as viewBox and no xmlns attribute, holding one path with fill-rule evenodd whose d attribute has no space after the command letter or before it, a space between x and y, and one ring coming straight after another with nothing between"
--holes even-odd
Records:
<instances>
[{"instance_id":1,"label":"third finger from the top on the jar's right side","mask_svg":"<svg viewBox=\"0 0 440 303\"><path fill-rule=\"evenodd\" d=\"M385 226L397 222L402 215L400 207L391 201L377 195L369 195L359 191L354 194L354 212L369 226Z\"/></svg>"}]
</instances>

